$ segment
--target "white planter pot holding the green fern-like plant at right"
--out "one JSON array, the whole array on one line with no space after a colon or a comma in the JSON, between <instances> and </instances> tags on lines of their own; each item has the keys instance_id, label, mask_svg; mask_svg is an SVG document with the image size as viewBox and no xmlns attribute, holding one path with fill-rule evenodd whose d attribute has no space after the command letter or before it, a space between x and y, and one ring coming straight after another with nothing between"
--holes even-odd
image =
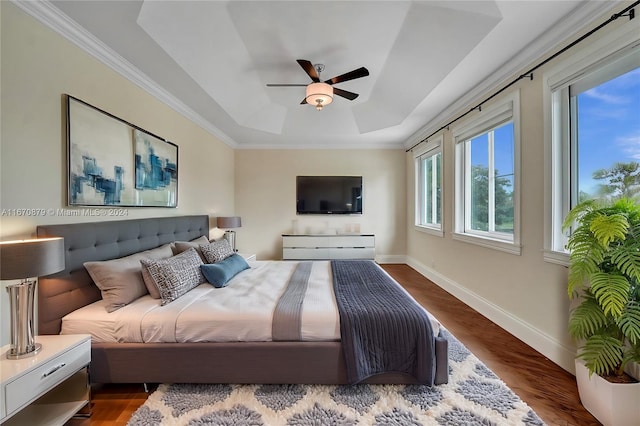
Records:
<instances>
[{"instance_id":1,"label":"white planter pot holding the green fern-like plant at right","mask_svg":"<svg viewBox=\"0 0 640 426\"><path fill-rule=\"evenodd\" d=\"M633 426L640 421L640 383L611 383L597 374L589 377L576 359L580 402L605 426Z\"/></svg>"}]
</instances>

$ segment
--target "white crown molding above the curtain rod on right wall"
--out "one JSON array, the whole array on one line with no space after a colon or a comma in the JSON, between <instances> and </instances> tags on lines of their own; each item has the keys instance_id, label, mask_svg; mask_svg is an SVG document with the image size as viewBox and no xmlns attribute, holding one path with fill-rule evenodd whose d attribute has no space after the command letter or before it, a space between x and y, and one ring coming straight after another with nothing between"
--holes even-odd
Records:
<instances>
[{"instance_id":1,"label":"white crown molding above the curtain rod on right wall","mask_svg":"<svg viewBox=\"0 0 640 426\"><path fill-rule=\"evenodd\" d=\"M495 91L496 88L507 84L513 79L514 75L522 72L527 66L530 67L530 64L533 64L549 52L558 49L558 46L567 39L576 36L579 31L584 29L585 22L591 23L606 12L611 12L618 3L621 2L586 1L581 3L574 11L554 25L553 28L545 31L542 36L529 44L526 49L523 49L504 65L501 65L491 77L450 104L427 124L413 133L404 144L405 149L411 149L424 138L440 129L444 123L451 121L453 117L464 113L472 106L476 106L482 102L491 91Z\"/></svg>"}]
</instances>

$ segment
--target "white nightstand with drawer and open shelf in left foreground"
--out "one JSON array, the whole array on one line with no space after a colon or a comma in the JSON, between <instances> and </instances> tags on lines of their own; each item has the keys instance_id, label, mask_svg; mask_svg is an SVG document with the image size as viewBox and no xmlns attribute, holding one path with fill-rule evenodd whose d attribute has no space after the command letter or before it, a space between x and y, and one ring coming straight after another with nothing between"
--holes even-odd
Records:
<instances>
[{"instance_id":1,"label":"white nightstand with drawer and open shelf in left foreground","mask_svg":"<svg viewBox=\"0 0 640 426\"><path fill-rule=\"evenodd\" d=\"M22 359L0 356L0 423L62 425L79 410L91 409L88 334L36 336L42 349Z\"/></svg>"}]
</instances>

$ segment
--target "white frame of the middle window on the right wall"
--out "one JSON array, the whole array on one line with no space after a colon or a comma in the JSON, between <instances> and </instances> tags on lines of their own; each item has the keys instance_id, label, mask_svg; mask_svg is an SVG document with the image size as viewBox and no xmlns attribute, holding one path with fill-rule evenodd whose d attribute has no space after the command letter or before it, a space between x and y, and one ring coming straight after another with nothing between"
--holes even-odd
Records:
<instances>
[{"instance_id":1,"label":"white frame of the middle window on the right wall","mask_svg":"<svg viewBox=\"0 0 640 426\"><path fill-rule=\"evenodd\" d=\"M473 231L469 228L470 139L513 122L513 236L500 232ZM455 195L453 239L520 255L520 91L514 90L490 107L484 108L472 120L452 129L455 144ZM491 160L492 161L492 160Z\"/></svg>"}]
</instances>

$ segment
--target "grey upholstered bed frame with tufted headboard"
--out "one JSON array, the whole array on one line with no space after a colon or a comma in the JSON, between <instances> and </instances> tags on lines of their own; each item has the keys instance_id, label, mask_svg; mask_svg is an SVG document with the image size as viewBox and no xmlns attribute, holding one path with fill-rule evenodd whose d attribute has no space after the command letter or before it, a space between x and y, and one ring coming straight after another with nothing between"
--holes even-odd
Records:
<instances>
[{"instance_id":1,"label":"grey upholstered bed frame with tufted headboard","mask_svg":"<svg viewBox=\"0 0 640 426\"><path fill-rule=\"evenodd\" d=\"M209 235L208 216L41 225L64 237L66 268L38 284L38 333L59 334L62 317L100 300L84 262L115 259L172 241ZM436 384L448 380L447 340L436 338ZM93 383L346 384L340 342L92 343ZM369 383L414 383L404 374Z\"/></svg>"}]
</instances>

